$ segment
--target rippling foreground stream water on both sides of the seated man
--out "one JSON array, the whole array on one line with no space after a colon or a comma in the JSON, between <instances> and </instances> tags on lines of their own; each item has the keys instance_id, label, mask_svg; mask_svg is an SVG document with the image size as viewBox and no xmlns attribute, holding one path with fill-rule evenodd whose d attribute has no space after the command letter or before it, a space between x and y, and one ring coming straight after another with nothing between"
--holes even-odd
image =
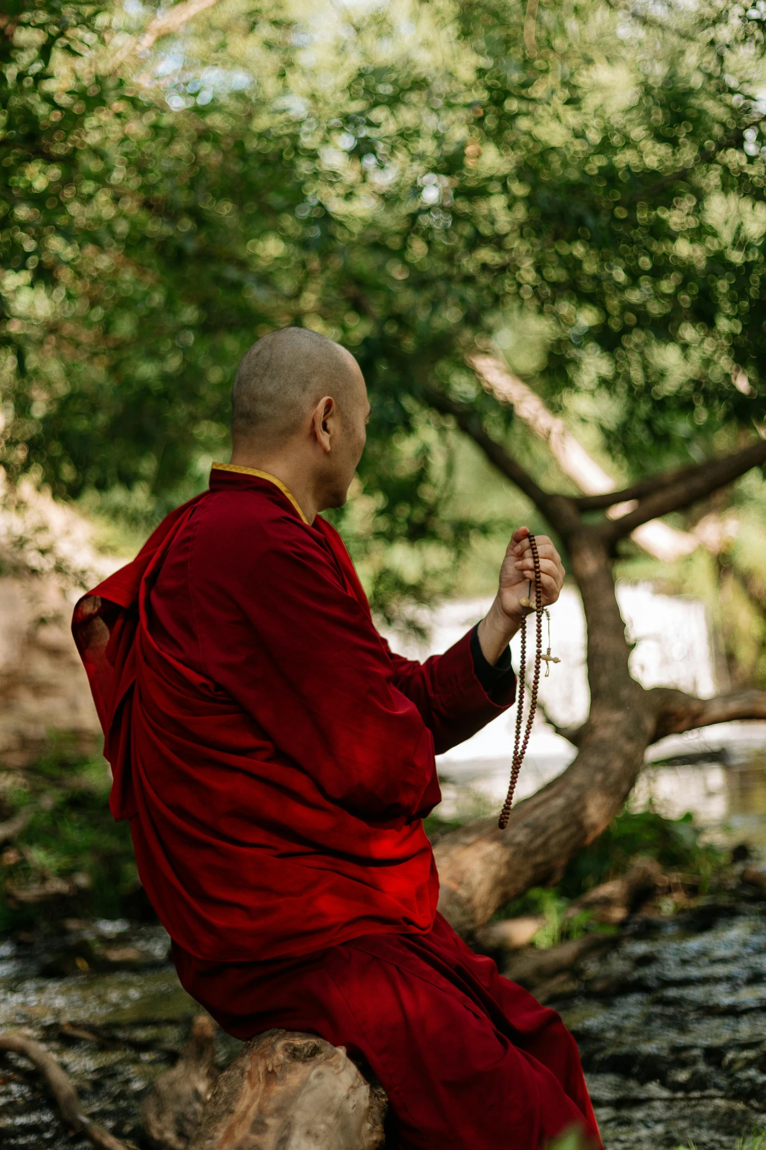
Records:
<instances>
[{"instance_id":1,"label":"rippling foreground stream water on both sides of the seated man","mask_svg":"<svg viewBox=\"0 0 766 1150\"><path fill-rule=\"evenodd\" d=\"M636 918L549 998L580 1044L609 1150L735 1150L766 1128L765 911L755 899L719 900L673 919ZM140 1099L196 1010L158 927L78 925L0 951L0 1029L42 1041L84 1107L137 1147L147 1145ZM220 1034L219 1065L239 1048ZM67 1136L14 1055L0 1061L0 1141L8 1150L87 1145Z\"/></svg>"}]
</instances>

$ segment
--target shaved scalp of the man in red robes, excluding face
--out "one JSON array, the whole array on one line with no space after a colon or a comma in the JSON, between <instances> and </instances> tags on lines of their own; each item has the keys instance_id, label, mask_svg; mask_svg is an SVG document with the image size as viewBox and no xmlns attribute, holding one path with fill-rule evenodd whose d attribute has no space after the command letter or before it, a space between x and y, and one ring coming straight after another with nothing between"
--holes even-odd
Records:
<instances>
[{"instance_id":1,"label":"shaved scalp of the man in red robes, excluding face","mask_svg":"<svg viewBox=\"0 0 766 1150\"><path fill-rule=\"evenodd\" d=\"M326 336L305 328L272 331L253 344L237 370L232 438L278 448L323 396L342 407L361 378L354 356Z\"/></svg>"}]
</instances>

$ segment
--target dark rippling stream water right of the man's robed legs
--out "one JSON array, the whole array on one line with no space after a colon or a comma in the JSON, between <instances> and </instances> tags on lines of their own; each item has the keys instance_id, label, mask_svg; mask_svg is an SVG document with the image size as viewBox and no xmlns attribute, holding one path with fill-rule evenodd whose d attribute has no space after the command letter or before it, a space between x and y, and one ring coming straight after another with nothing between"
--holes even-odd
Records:
<instances>
[{"instance_id":1,"label":"dark rippling stream water right of the man's robed legs","mask_svg":"<svg viewBox=\"0 0 766 1150\"><path fill-rule=\"evenodd\" d=\"M554 1000L580 1045L609 1150L734 1150L766 1129L766 917L711 904L636 919L578 992Z\"/></svg>"}]
</instances>

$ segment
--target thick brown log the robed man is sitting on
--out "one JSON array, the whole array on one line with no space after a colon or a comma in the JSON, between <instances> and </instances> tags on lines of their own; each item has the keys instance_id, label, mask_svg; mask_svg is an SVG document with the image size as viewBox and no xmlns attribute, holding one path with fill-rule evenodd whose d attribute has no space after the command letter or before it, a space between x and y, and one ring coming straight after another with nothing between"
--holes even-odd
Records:
<instances>
[{"instance_id":1,"label":"thick brown log the robed man is sitting on","mask_svg":"<svg viewBox=\"0 0 766 1150\"><path fill-rule=\"evenodd\" d=\"M266 1030L218 1079L188 1150L376 1150L386 1106L342 1048Z\"/></svg>"}]
</instances>

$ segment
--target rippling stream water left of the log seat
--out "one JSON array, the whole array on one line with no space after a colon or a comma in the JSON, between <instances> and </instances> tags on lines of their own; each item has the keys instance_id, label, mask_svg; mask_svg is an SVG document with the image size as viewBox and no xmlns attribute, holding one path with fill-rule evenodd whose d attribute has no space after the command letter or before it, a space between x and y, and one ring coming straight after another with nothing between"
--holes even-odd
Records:
<instances>
[{"instance_id":1,"label":"rippling stream water left of the log seat","mask_svg":"<svg viewBox=\"0 0 766 1150\"><path fill-rule=\"evenodd\" d=\"M115 937L144 953L139 968L63 977L42 974L69 960L78 944L90 953L87 943L111 943ZM10 940L0 948L0 1029L21 1029L42 1042L71 1075L85 1112L147 1150L140 1101L156 1075L175 1063L200 1010L178 982L168 950L162 927L124 920ZM240 1048L240 1042L219 1032L218 1064L227 1065ZM38 1075L15 1055L0 1063L0 1142L3 1150L90 1147L68 1136Z\"/></svg>"}]
</instances>

